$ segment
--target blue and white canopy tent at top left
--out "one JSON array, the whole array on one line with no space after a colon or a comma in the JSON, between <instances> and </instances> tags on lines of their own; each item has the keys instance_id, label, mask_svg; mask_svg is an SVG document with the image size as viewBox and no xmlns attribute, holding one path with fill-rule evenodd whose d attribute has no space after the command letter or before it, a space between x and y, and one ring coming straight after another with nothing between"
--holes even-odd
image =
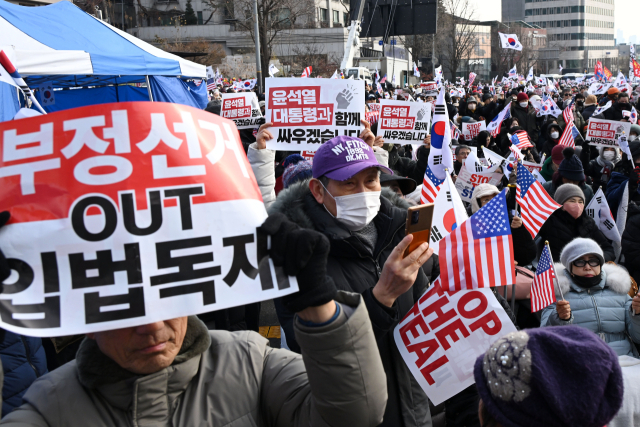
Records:
<instances>
[{"instance_id":1,"label":"blue and white canopy tent at top left","mask_svg":"<svg viewBox=\"0 0 640 427\"><path fill-rule=\"evenodd\" d=\"M48 111L135 100L207 104L206 85L193 81L206 77L204 65L158 49L68 1L25 7L0 0L0 49L31 89L44 83L63 89L54 91ZM0 90L4 98L7 93ZM10 103L3 99L0 107Z\"/></svg>"}]
</instances>

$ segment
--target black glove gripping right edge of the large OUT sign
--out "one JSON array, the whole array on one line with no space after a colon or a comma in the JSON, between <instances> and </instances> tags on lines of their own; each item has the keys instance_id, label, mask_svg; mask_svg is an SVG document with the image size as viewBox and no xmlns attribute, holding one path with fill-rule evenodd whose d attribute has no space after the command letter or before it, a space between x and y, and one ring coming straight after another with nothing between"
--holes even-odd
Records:
<instances>
[{"instance_id":1,"label":"black glove gripping right edge of the large OUT sign","mask_svg":"<svg viewBox=\"0 0 640 427\"><path fill-rule=\"evenodd\" d=\"M323 234L300 228L280 213L270 215L260 229L271 236L273 264L298 279L299 291L282 298L287 310L297 313L334 299L336 286L327 276L329 240Z\"/></svg>"}]
</instances>

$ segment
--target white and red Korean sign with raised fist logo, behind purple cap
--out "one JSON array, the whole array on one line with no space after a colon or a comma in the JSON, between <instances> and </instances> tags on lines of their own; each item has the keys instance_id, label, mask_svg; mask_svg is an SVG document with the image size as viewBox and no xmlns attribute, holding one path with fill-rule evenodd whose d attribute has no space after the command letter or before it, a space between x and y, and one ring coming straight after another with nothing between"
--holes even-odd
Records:
<instances>
[{"instance_id":1,"label":"white and red Korean sign with raised fist logo, behind purple cap","mask_svg":"<svg viewBox=\"0 0 640 427\"><path fill-rule=\"evenodd\" d=\"M364 80L268 78L266 106L268 149L316 151L338 135L360 135Z\"/></svg>"}]
</instances>

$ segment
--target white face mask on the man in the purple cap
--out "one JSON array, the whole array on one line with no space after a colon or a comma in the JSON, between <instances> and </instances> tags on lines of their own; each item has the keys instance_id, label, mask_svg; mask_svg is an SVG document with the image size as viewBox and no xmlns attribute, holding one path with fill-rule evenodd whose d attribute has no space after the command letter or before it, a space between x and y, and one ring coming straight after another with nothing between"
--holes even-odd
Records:
<instances>
[{"instance_id":1,"label":"white face mask on the man in the purple cap","mask_svg":"<svg viewBox=\"0 0 640 427\"><path fill-rule=\"evenodd\" d=\"M333 197L326 187L325 191ZM373 221L373 218L380 211L380 193L380 191L364 191L348 196L333 197L337 209L335 218L344 224L349 231L362 230ZM326 206L325 209L327 209ZM328 209L327 212L329 212Z\"/></svg>"}]
</instances>

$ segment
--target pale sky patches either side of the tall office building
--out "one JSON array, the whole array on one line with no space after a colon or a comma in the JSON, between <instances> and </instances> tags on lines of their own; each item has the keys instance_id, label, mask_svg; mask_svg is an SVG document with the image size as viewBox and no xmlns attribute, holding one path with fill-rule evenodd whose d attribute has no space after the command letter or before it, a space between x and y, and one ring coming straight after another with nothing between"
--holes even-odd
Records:
<instances>
[{"instance_id":1,"label":"pale sky patches either side of the tall office building","mask_svg":"<svg viewBox=\"0 0 640 427\"><path fill-rule=\"evenodd\" d=\"M469 0L476 9L479 20L491 21L502 18L501 0ZM615 0L615 35L618 43L628 43L631 36L636 36L636 43L640 44L640 27L637 25L638 1Z\"/></svg>"}]
</instances>

